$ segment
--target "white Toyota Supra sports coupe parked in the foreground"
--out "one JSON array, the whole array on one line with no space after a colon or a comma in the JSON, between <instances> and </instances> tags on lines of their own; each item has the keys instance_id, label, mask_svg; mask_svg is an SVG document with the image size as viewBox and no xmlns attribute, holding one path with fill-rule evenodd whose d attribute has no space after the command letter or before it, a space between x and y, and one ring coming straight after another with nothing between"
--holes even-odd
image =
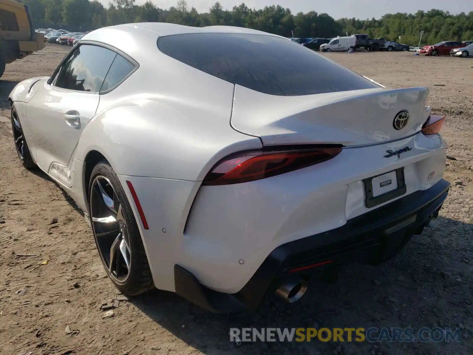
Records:
<instances>
[{"instance_id":1,"label":"white Toyota Supra sports coupe parked in the foreground","mask_svg":"<svg viewBox=\"0 0 473 355\"><path fill-rule=\"evenodd\" d=\"M19 159L84 211L120 291L227 312L383 262L437 217L428 94L256 30L138 23L85 35L9 100Z\"/></svg>"}]
</instances>

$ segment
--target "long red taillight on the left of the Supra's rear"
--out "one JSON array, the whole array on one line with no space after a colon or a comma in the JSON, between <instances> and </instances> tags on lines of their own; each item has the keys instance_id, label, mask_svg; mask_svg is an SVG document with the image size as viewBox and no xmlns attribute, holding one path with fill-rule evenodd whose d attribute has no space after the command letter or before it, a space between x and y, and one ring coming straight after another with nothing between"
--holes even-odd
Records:
<instances>
[{"instance_id":1,"label":"long red taillight on the left of the Supra's rear","mask_svg":"<svg viewBox=\"0 0 473 355\"><path fill-rule=\"evenodd\" d=\"M332 159L342 146L272 151L245 151L220 160L204 178L203 185L228 185L254 181L306 168Z\"/></svg>"}]
</instances>

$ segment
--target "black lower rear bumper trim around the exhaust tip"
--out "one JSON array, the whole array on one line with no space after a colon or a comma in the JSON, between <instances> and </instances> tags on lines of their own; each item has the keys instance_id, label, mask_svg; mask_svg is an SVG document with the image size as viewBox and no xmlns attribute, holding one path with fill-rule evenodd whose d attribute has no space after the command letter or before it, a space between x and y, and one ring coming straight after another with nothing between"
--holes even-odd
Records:
<instances>
[{"instance_id":1,"label":"black lower rear bumper trim around the exhaust tip","mask_svg":"<svg viewBox=\"0 0 473 355\"><path fill-rule=\"evenodd\" d=\"M175 292L213 312L254 311L266 293L292 275L351 262L377 264L396 255L436 217L450 184L440 180L376 210L350 219L342 227L291 241L275 248L237 293L221 293L202 285L188 270L175 265ZM326 262L324 266L305 268Z\"/></svg>"}]
</instances>

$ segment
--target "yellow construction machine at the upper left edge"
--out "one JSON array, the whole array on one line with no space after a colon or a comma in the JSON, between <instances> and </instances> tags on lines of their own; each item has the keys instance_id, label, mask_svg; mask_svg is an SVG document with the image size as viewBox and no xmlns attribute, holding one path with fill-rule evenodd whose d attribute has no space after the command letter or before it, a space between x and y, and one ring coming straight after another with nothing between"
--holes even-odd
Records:
<instances>
[{"instance_id":1,"label":"yellow construction machine at the upper left edge","mask_svg":"<svg viewBox=\"0 0 473 355\"><path fill-rule=\"evenodd\" d=\"M0 77L5 64L44 48L44 35L35 32L26 5L13 0L0 0Z\"/></svg>"}]
</instances>

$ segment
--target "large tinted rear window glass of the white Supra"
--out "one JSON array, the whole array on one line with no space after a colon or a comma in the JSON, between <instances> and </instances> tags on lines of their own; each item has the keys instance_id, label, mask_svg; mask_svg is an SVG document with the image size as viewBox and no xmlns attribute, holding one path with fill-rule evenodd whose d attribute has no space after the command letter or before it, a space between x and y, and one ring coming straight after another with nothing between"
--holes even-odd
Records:
<instances>
[{"instance_id":1,"label":"large tinted rear window glass of the white Supra","mask_svg":"<svg viewBox=\"0 0 473 355\"><path fill-rule=\"evenodd\" d=\"M169 35L158 39L158 48L196 69L270 95L379 88L303 45L270 35Z\"/></svg>"}]
</instances>

